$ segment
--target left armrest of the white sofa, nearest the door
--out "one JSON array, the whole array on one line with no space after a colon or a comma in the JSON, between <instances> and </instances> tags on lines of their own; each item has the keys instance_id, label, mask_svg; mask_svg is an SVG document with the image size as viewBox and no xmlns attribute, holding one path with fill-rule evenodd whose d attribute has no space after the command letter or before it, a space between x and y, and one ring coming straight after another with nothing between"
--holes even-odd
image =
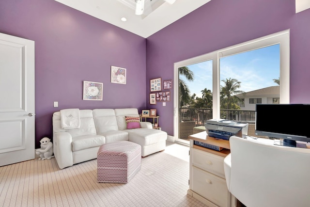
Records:
<instances>
[{"instance_id":1,"label":"left armrest of the white sofa, nearest the door","mask_svg":"<svg viewBox=\"0 0 310 207\"><path fill-rule=\"evenodd\" d=\"M53 151L60 169L73 165L72 136L68 132L53 135Z\"/></svg>"}]
</instances>

